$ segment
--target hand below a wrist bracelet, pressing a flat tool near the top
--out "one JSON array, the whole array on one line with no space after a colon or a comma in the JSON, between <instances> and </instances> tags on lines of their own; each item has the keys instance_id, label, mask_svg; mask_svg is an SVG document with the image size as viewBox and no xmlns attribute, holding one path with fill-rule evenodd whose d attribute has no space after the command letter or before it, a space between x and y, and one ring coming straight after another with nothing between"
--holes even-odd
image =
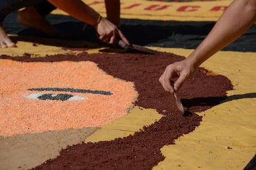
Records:
<instances>
[{"instance_id":1,"label":"hand below a wrist bracelet, pressing a flat tool near the top","mask_svg":"<svg viewBox=\"0 0 256 170\"><path fill-rule=\"evenodd\" d=\"M101 18L100 23L95 26L95 29L98 33L98 38L103 42L116 44L117 40L122 39L127 46L130 45L130 42L126 39L124 34L122 34L121 30L106 18Z\"/></svg>"}]
</instances>

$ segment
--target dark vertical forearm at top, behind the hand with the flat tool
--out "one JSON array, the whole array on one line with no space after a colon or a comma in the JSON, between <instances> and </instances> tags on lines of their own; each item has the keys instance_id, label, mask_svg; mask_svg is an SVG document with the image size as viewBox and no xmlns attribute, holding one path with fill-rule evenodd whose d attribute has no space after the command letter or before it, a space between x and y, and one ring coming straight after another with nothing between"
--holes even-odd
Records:
<instances>
[{"instance_id":1,"label":"dark vertical forearm at top, behind the hand with the flat tool","mask_svg":"<svg viewBox=\"0 0 256 170\"><path fill-rule=\"evenodd\" d=\"M105 6L108 20L120 25L120 0L105 0Z\"/></svg>"}]
</instances>

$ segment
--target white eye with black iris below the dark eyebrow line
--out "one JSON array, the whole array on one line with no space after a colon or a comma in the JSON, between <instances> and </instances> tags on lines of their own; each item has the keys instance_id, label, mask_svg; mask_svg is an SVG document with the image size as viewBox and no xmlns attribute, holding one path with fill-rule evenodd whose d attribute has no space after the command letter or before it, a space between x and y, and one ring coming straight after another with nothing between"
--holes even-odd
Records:
<instances>
[{"instance_id":1,"label":"white eye with black iris below the dark eyebrow line","mask_svg":"<svg viewBox=\"0 0 256 170\"><path fill-rule=\"evenodd\" d=\"M87 100L87 97L80 97L79 95L71 94L44 94L44 93L33 93L25 96L28 99L38 99L38 100Z\"/></svg>"}]
</instances>

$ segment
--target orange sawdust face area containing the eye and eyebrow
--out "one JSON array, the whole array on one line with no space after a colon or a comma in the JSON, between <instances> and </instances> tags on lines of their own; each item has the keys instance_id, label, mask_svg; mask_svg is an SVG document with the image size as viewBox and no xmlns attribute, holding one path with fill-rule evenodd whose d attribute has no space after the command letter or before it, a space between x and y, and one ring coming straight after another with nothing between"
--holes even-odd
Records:
<instances>
[{"instance_id":1,"label":"orange sawdust face area containing the eye and eyebrow","mask_svg":"<svg viewBox=\"0 0 256 170\"><path fill-rule=\"evenodd\" d=\"M1 64L0 136L103 126L126 115L137 98L132 83L92 62Z\"/></svg>"}]
</instances>

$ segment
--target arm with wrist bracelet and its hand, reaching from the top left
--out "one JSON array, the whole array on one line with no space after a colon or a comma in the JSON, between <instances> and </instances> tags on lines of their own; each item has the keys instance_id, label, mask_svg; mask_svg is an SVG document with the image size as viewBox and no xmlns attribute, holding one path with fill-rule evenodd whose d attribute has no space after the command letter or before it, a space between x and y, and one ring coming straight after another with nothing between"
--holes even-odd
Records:
<instances>
[{"instance_id":1,"label":"arm with wrist bracelet and its hand, reaching from the top left","mask_svg":"<svg viewBox=\"0 0 256 170\"><path fill-rule=\"evenodd\" d=\"M129 44L129 41L126 39L124 34L117 28L116 25L109 22L106 18L101 18L99 20L100 14L96 12L91 7L87 6L81 0L48 0L54 6L58 7L61 10L67 12L67 14L72 15L73 17L94 25L99 38L101 41L107 42L108 44L114 44L116 39L121 38L126 44Z\"/></svg>"}]
</instances>

